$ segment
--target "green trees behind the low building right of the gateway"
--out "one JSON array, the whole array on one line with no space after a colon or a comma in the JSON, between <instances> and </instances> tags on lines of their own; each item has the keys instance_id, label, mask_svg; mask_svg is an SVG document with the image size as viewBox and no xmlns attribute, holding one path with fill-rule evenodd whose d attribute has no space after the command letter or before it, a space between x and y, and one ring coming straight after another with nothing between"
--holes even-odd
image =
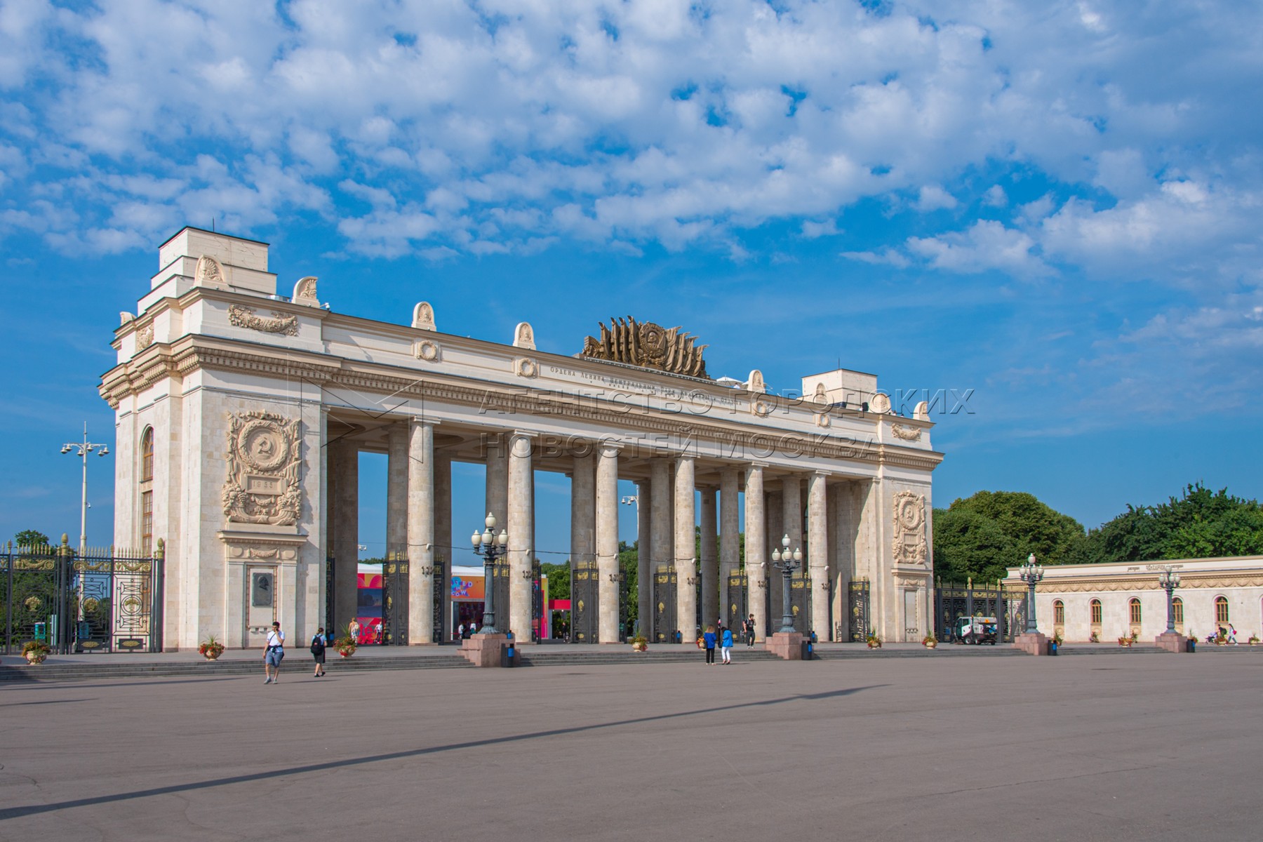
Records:
<instances>
[{"instance_id":1,"label":"green trees behind the low building right of the gateway","mask_svg":"<svg viewBox=\"0 0 1263 842\"><path fill-rule=\"evenodd\" d=\"M979 491L935 509L935 573L994 582L1034 553L1042 564L1263 554L1263 506L1201 482L1157 505L1128 505L1096 529L1024 491Z\"/></svg>"}]
</instances>

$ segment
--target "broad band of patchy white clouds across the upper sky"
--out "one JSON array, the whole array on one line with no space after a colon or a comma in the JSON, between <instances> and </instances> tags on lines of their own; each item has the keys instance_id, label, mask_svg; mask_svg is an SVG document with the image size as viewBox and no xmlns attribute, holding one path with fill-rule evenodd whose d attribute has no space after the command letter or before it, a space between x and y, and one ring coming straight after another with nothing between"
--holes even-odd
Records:
<instances>
[{"instance_id":1,"label":"broad band of patchy white clouds across the upper sky","mask_svg":"<svg viewBox=\"0 0 1263 842\"><path fill-rule=\"evenodd\" d=\"M1149 271L1229 276L1257 252L1258 232L1234 220L1263 194L1263 126L1242 107L1263 82L1258 8L778 9L298 0L283 20L241 0L6 3L0 86L15 96L0 143L29 163L4 167L4 198L18 210L24 189L47 191L29 181L38 169L87 175L88 191L63 187L75 216L143 237L160 215L112 208L141 198L126 179L149 179L168 213L242 225L336 211L342 235L362 237L352 247L390 254L554 236L735 254L743 228L770 220L832 235L865 198L908 216L1013 208L1017 183L971 181L1002 168L1056 189L999 228L918 227L913 254L1029 274L1042 249L1109 275L1147 244L1161 252L1140 260ZM912 207L892 202L909 193ZM424 232L388 235L414 203L426 221L409 231ZM399 218L374 216L390 208ZM887 254L913 222L853 254ZM1206 237L1229 256L1200 254Z\"/></svg>"}]
</instances>

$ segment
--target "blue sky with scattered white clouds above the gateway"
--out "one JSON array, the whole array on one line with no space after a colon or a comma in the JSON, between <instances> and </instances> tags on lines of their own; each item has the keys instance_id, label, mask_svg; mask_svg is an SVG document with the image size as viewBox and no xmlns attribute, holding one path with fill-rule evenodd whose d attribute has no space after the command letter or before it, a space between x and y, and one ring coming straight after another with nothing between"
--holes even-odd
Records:
<instances>
[{"instance_id":1,"label":"blue sky with scattered white clouds above the gateway","mask_svg":"<svg viewBox=\"0 0 1263 842\"><path fill-rule=\"evenodd\" d=\"M1024 490L1095 526L1196 480L1263 496L1260 18L0 1L0 534L73 538L58 449L83 420L112 441L117 313L212 222L345 313L424 299L441 331L529 321L560 353L630 313L696 333L716 376L973 390L936 415L938 505Z\"/></svg>"}]
</instances>

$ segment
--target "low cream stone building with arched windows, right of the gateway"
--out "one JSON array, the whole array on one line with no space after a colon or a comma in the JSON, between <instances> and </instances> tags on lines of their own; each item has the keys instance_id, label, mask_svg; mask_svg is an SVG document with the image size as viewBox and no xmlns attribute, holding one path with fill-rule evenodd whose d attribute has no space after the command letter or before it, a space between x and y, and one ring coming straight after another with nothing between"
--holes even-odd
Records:
<instances>
[{"instance_id":1,"label":"low cream stone building with arched windows, right of the gateway","mask_svg":"<svg viewBox=\"0 0 1263 842\"><path fill-rule=\"evenodd\" d=\"M1167 629L1167 592L1158 584L1167 567L1180 573L1173 597L1182 615L1176 614L1176 631L1204 640L1231 624L1239 643L1250 635L1263 637L1263 555L1045 567L1036 588L1039 631L1060 632L1067 641L1090 640L1095 631L1101 643L1134 631L1138 640L1152 641ZM1007 588L1023 586L1018 569L1009 569ZM1133 600L1139 602L1139 622L1133 622ZM1216 600L1223 602L1216 606ZM1100 622L1092 621L1094 601L1100 602Z\"/></svg>"}]
</instances>

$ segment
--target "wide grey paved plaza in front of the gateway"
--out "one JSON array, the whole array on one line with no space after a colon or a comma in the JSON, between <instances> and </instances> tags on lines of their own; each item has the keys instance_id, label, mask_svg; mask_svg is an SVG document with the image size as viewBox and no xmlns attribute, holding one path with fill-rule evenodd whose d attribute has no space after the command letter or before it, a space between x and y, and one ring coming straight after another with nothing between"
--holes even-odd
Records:
<instances>
[{"instance_id":1,"label":"wide grey paved plaza in front of the gateway","mask_svg":"<svg viewBox=\"0 0 1263 842\"><path fill-rule=\"evenodd\" d=\"M1263 656L5 683L4 839L1259 838Z\"/></svg>"}]
</instances>

